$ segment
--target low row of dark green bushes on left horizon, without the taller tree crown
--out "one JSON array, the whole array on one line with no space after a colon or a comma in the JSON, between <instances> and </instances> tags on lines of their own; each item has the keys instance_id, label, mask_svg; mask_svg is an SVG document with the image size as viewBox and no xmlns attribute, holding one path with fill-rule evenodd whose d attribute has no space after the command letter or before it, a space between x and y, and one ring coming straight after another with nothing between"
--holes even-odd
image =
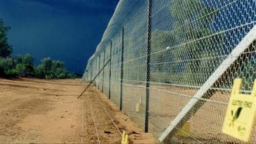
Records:
<instances>
[{"instance_id":1,"label":"low row of dark green bushes on left horizon, without the taller tree crown","mask_svg":"<svg viewBox=\"0 0 256 144\"><path fill-rule=\"evenodd\" d=\"M0 57L1 76L36 77L39 79L74 79L76 75L69 73L62 61L54 61L50 57L41 60L34 67L34 58L30 54Z\"/></svg>"}]
</instances>

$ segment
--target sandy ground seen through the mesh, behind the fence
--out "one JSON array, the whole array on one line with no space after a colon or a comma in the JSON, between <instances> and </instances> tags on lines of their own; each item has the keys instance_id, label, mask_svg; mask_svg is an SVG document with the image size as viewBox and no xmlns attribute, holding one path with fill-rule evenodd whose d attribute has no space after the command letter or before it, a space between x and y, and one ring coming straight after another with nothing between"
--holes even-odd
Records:
<instances>
[{"instance_id":1,"label":"sandy ground seen through the mesh, behind the fence","mask_svg":"<svg viewBox=\"0 0 256 144\"><path fill-rule=\"evenodd\" d=\"M96 81L97 82L97 81ZM98 83L98 82L97 82ZM101 87L101 82L100 87ZM110 99L119 105L120 83L111 82ZM123 85L123 111L141 127L144 126L145 107L144 85ZM185 89L178 87L167 87L151 85L149 104L149 132L155 137L161 136L170 125L170 121L180 113L185 105L191 100L196 89ZM108 92L108 91L107 91ZM181 96L178 94L188 95ZM182 132L183 135L174 134L170 143L245 143L236 138L222 133L222 125L226 114L230 93L216 92L210 101L204 105L190 118L189 131ZM140 112L136 112L136 104L140 103ZM252 129L251 140L246 143L256 143L256 118Z\"/></svg>"}]
</instances>

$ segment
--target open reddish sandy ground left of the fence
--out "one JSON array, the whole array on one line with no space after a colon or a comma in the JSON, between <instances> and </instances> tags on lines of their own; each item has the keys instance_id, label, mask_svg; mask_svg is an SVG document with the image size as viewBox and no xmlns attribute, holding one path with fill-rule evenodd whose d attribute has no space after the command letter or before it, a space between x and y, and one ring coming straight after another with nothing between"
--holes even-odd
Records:
<instances>
[{"instance_id":1,"label":"open reddish sandy ground left of the fence","mask_svg":"<svg viewBox=\"0 0 256 144\"><path fill-rule=\"evenodd\" d=\"M77 99L79 81L0 79L0 143L120 143L118 129L129 143L156 143L94 86Z\"/></svg>"}]
</instances>

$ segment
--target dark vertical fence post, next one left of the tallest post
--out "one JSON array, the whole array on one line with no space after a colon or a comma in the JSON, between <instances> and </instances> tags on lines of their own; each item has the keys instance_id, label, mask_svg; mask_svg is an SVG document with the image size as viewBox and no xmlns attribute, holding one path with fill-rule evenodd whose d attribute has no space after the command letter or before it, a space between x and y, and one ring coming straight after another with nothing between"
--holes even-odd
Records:
<instances>
[{"instance_id":1,"label":"dark vertical fence post, next one left of the tallest post","mask_svg":"<svg viewBox=\"0 0 256 144\"><path fill-rule=\"evenodd\" d=\"M121 83L120 83L120 110L123 109L123 74L124 74L124 26L122 26L122 51L121 51Z\"/></svg>"}]
</instances>

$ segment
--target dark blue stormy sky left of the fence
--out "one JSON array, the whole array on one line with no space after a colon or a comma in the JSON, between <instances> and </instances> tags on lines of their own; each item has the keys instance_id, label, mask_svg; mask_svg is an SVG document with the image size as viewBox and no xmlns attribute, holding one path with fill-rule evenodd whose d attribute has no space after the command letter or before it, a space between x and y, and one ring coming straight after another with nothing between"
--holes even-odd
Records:
<instances>
[{"instance_id":1,"label":"dark blue stormy sky left of the fence","mask_svg":"<svg viewBox=\"0 0 256 144\"><path fill-rule=\"evenodd\" d=\"M108 25L118 0L0 0L0 18L11 26L13 54L30 53L65 62L83 73Z\"/></svg>"}]
</instances>

